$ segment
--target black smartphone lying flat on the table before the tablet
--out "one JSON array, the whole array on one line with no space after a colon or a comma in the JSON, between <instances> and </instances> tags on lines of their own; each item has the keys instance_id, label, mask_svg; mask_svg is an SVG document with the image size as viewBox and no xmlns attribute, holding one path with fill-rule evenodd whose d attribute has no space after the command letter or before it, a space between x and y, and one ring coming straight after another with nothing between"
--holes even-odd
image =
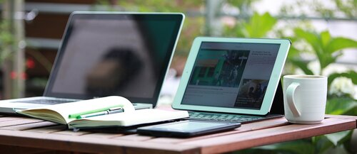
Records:
<instances>
[{"instance_id":1,"label":"black smartphone lying flat on the table before the tablet","mask_svg":"<svg viewBox=\"0 0 357 154\"><path fill-rule=\"evenodd\" d=\"M187 120L140 127L136 133L146 136L188 138L208 133L228 131L238 128L239 126L241 126L241 123Z\"/></svg>"}]
</instances>

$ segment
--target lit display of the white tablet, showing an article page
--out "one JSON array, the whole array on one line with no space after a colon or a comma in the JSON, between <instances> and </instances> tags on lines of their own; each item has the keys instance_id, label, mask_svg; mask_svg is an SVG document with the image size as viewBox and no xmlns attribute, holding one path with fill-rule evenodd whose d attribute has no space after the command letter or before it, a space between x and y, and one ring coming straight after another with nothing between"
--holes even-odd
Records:
<instances>
[{"instance_id":1,"label":"lit display of the white tablet, showing an article page","mask_svg":"<svg viewBox=\"0 0 357 154\"><path fill-rule=\"evenodd\" d=\"M279 47L201 43L181 104L260 109Z\"/></svg>"}]
</instances>

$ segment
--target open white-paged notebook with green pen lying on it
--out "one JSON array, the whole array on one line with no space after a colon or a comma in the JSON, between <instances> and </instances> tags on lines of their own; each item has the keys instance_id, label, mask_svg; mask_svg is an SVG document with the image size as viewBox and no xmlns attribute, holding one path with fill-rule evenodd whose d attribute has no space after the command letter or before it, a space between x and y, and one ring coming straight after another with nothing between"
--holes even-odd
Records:
<instances>
[{"instance_id":1,"label":"open white-paged notebook with green pen lying on it","mask_svg":"<svg viewBox=\"0 0 357 154\"><path fill-rule=\"evenodd\" d=\"M135 126L188 117L187 111L135 110L124 97L103 97L16 111L36 119L66 124L69 128Z\"/></svg>"}]
</instances>

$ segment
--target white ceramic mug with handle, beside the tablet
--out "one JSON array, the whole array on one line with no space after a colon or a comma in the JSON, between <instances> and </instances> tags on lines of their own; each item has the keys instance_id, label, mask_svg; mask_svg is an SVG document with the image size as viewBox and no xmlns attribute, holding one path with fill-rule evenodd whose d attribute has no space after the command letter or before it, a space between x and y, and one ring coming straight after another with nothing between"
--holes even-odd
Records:
<instances>
[{"instance_id":1,"label":"white ceramic mug with handle, beside the tablet","mask_svg":"<svg viewBox=\"0 0 357 154\"><path fill-rule=\"evenodd\" d=\"M327 77L286 75L283 77L285 118L290 123L320 123L325 117Z\"/></svg>"}]
</instances>

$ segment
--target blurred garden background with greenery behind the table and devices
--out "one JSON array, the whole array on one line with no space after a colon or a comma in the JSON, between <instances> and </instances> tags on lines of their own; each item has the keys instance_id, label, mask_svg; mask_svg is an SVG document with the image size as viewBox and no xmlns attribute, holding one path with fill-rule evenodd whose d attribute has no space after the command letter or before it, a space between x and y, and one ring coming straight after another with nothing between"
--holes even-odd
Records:
<instances>
[{"instance_id":1,"label":"blurred garden background with greenery behind the table and devices","mask_svg":"<svg viewBox=\"0 0 357 154\"><path fill-rule=\"evenodd\" d=\"M171 104L193 38L289 38L283 75L328 76L326 114L357 115L357 0L0 0L0 99L41 96L72 11L186 15L159 104ZM237 153L357 153L353 131ZM354 133L354 136L357 136ZM301 147L304 147L303 149Z\"/></svg>"}]
</instances>

